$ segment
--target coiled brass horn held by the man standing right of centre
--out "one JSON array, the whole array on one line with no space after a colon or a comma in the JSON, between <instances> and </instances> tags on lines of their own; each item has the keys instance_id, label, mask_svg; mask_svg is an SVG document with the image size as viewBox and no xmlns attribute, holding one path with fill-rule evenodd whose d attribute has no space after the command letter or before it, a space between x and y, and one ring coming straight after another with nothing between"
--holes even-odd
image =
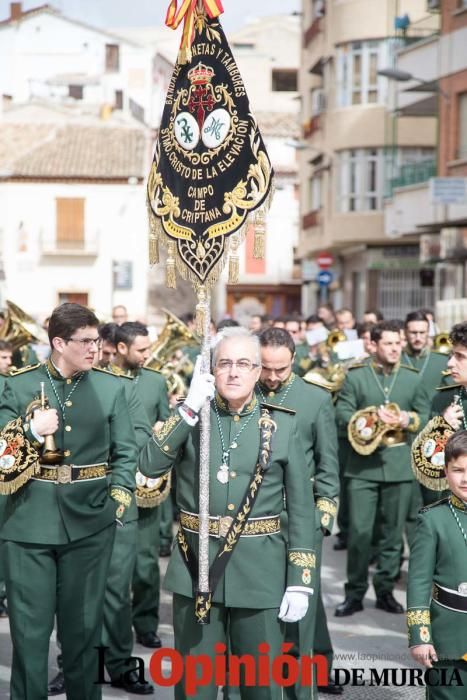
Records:
<instances>
[{"instance_id":1,"label":"coiled brass horn held by the man standing right of centre","mask_svg":"<svg viewBox=\"0 0 467 700\"><path fill-rule=\"evenodd\" d=\"M396 403L388 403L385 408L400 414ZM383 423L378 417L378 407L368 406L354 413L347 426L347 437L355 452L366 456L373 454L380 445L391 447L404 442L404 431Z\"/></svg>"}]
</instances>

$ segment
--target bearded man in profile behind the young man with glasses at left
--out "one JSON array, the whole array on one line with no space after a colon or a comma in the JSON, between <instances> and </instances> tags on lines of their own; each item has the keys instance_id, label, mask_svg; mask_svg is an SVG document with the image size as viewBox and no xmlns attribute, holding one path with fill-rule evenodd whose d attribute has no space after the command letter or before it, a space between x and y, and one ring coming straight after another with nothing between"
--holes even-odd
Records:
<instances>
[{"instance_id":1,"label":"bearded man in profile behind the young man with glasses at left","mask_svg":"<svg viewBox=\"0 0 467 700\"><path fill-rule=\"evenodd\" d=\"M126 322L115 329L117 354L110 370L133 377L135 392L143 404L147 418L154 428L158 421L169 417L167 385L164 376L144 367L149 359L151 342L148 329L142 323ZM137 485L138 544L133 573L133 626L136 640L145 647L161 646L157 634L159 625L159 537L160 507L156 505L158 486L154 493L146 479ZM144 482L144 483L143 483Z\"/></svg>"}]
</instances>

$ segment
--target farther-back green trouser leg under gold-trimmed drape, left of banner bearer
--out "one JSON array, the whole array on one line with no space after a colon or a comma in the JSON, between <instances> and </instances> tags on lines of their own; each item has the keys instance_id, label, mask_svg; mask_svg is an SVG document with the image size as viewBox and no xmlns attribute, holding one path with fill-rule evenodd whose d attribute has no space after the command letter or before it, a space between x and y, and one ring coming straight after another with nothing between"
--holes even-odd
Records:
<instances>
[{"instance_id":1,"label":"farther-back green trouser leg under gold-trimmed drape, left of banner bearer","mask_svg":"<svg viewBox=\"0 0 467 700\"><path fill-rule=\"evenodd\" d=\"M133 626L137 634L159 626L159 507L138 508L138 543L133 572Z\"/></svg>"}]
</instances>

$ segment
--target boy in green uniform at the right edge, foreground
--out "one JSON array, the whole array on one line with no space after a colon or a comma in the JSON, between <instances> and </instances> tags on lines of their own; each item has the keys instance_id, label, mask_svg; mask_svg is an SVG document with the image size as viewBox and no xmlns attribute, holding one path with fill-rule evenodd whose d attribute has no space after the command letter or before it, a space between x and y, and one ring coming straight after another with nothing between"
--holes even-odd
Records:
<instances>
[{"instance_id":1,"label":"boy in green uniform at the right edge, foreground","mask_svg":"<svg viewBox=\"0 0 467 700\"><path fill-rule=\"evenodd\" d=\"M445 447L450 495L420 511L410 553L407 625L413 658L445 669L427 688L429 700L464 700L467 693L467 432ZM436 680L440 685L435 685Z\"/></svg>"}]
</instances>

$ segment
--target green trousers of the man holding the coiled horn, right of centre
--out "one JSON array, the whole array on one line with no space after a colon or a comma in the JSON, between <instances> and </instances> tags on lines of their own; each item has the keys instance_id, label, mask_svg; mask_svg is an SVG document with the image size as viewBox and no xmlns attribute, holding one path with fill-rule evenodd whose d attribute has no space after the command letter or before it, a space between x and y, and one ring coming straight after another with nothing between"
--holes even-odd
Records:
<instances>
[{"instance_id":1,"label":"green trousers of the man holding the coiled horn, right of centre","mask_svg":"<svg viewBox=\"0 0 467 700\"><path fill-rule=\"evenodd\" d=\"M346 596L362 600L368 588L368 568L375 522L380 526L376 595L392 592L399 574L402 533L412 495L412 482L349 479L349 540Z\"/></svg>"}]
</instances>

